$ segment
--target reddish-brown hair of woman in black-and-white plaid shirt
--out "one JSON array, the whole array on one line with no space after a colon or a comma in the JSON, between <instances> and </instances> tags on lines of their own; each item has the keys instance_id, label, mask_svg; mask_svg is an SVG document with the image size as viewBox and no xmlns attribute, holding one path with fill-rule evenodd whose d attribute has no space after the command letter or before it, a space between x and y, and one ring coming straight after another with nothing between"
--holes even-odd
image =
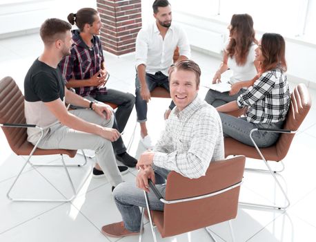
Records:
<instances>
[{"instance_id":1,"label":"reddish-brown hair of woman in black-and-white plaid shirt","mask_svg":"<svg viewBox=\"0 0 316 242\"><path fill-rule=\"evenodd\" d=\"M261 62L261 73L274 68L287 70L285 59L285 41L282 35L266 32L261 38L261 52L264 61Z\"/></svg>"}]
</instances>

